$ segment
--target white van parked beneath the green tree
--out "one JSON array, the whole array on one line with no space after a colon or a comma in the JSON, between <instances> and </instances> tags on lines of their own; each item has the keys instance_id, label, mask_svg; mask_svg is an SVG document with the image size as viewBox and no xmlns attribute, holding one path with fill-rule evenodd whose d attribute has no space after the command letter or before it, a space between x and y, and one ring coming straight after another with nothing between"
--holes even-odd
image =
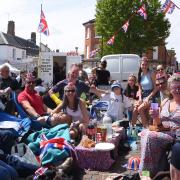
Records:
<instances>
[{"instance_id":1,"label":"white van parked beneath the green tree","mask_svg":"<svg viewBox=\"0 0 180 180\"><path fill-rule=\"evenodd\" d=\"M103 56L101 61L107 61L107 70L111 80L127 81L130 74L138 75L140 57L136 54L112 54Z\"/></svg>"}]
</instances>

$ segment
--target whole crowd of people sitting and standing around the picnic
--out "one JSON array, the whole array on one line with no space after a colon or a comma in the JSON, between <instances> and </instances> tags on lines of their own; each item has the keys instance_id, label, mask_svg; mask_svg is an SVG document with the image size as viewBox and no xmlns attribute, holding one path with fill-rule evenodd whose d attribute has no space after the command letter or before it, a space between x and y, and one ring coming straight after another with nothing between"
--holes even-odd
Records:
<instances>
[{"instance_id":1,"label":"whole crowd of people sitting and standing around the picnic","mask_svg":"<svg viewBox=\"0 0 180 180\"><path fill-rule=\"evenodd\" d=\"M135 127L137 120L141 121L144 128L141 132L141 170L149 170L151 176L164 170L164 166L159 164L170 144L171 178L178 179L180 74L167 74L163 65L158 65L156 71L152 71L147 57L142 57L138 77L129 75L127 86L123 90L120 82L111 81L106 66L107 62L103 61L88 75L82 64L73 64L67 77L58 82L56 77L55 85L49 90L32 73L22 71L15 79L10 76L9 67L2 66L0 109L11 115L18 114L12 100L12 92L15 91L18 103L30 118L45 128L65 123L69 126L71 139L79 142L91 121L88 105L93 98L106 101L108 108L102 119L104 124L114 123L126 116L130 127ZM57 74L56 70L56 76ZM109 86L110 91L102 89L102 86ZM155 105L157 108L154 108ZM3 146L2 143L0 145ZM9 166L0 156L0 175L3 174L7 179L3 170L8 168L3 163ZM14 172L9 169L7 171L12 177Z\"/></svg>"}]
</instances>

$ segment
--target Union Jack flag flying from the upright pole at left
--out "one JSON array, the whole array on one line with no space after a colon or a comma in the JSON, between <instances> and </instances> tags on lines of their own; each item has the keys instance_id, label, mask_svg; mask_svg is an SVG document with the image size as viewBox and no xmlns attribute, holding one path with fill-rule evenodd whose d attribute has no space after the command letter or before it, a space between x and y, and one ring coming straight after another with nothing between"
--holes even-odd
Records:
<instances>
[{"instance_id":1,"label":"Union Jack flag flying from the upright pole at left","mask_svg":"<svg viewBox=\"0 0 180 180\"><path fill-rule=\"evenodd\" d=\"M45 18L45 15L43 13L43 10L41 9L41 15L40 15L40 22L38 26L38 31L40 33L44 33L46 36L49 36L49 29L48 29L48 24Z\"/></svg>"}]
</instances>

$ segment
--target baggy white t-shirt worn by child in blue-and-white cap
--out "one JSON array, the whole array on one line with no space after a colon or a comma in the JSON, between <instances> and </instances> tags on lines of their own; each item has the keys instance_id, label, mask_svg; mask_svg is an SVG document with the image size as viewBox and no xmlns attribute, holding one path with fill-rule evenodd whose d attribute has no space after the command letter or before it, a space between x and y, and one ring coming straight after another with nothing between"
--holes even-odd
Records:
<instances>
[{"instance_id":1,"label":"baggy white t-shirt worn by child in blue-and-white cap","mask_svg":"<svg viewBox=\"0 0 180 180\"><path fill-rule=\"evenodd\" d=\"M116 95L114 92L111 92L110 94L103 94L101 100L109 102L106 115L113 117L114 119L123 119L124 109L132 106L128 97L123 95L122 102L122 95Z\"/></svg>"}]
</instances>

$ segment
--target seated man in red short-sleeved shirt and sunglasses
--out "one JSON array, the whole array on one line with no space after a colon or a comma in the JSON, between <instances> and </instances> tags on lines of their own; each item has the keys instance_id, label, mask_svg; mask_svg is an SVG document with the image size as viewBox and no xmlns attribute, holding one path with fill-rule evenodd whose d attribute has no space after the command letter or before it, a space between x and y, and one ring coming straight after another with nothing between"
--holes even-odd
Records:
<instances>
[{"instance_id":1,"label":"seated man in red short-sleeved shirt and sunglasses","mask_svg":"<svg viewBox=\"0 0 180 180\"><path fill-rule=\"evenodd\" d=\"M55 126L60 123L70 124L70 116L58 113L50 116L52 109L48 108L42 100L42 97L34 90L35 79L32 74L27 74L25 80L25 89L18 96L18 102L26 112L37 118L42 125Z\"/></svg>"}]
</instances>

